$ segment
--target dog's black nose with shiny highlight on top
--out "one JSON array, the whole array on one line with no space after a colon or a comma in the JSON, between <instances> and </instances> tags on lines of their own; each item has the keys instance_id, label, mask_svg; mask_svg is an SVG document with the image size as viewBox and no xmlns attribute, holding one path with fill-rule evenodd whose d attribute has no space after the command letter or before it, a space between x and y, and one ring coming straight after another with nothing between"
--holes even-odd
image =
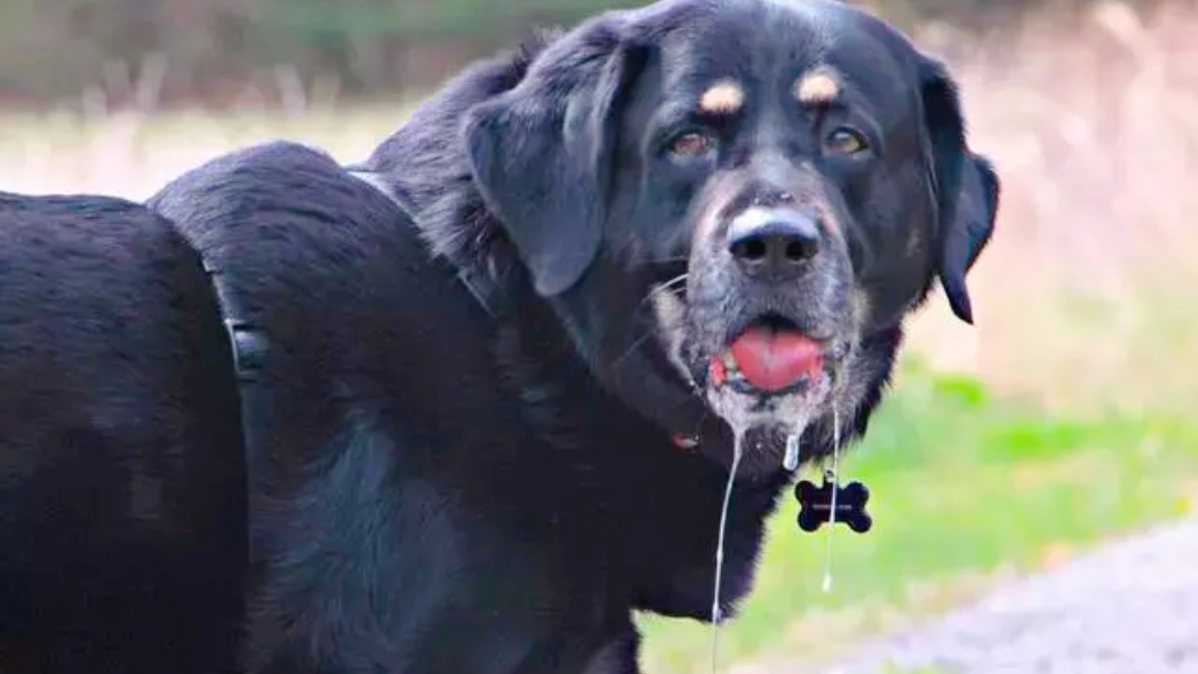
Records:
<instances>
[{"instance_id":1,"label":"dog's black nose with shiny highlight on top","mask_svg":"<svg viewBox=\"0 0 1198 674\"><path fill-rule=\"evenodd\" d=\"M750 274L789 274L819 251L819 227L794 208L749 208L728 226L728 251Z\"/></svg>"}]
</instances>

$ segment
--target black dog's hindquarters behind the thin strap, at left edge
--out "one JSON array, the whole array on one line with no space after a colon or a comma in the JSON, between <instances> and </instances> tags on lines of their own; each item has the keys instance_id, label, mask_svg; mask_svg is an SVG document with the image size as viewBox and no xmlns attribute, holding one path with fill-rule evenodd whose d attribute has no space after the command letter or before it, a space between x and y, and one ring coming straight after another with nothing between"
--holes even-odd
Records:
<instances>
[{"instance_id":1,"label":"black dog's hindquarters behind the thin strap, at left edge","mask_svg":"<svg viewBox=\"0 0 1198 674\"><path fill-rule=\"evenodd\" d=\"M231 670L246 558L229 342L145 207L0 194L0 670Z\"/></svg>"}]
</instances>

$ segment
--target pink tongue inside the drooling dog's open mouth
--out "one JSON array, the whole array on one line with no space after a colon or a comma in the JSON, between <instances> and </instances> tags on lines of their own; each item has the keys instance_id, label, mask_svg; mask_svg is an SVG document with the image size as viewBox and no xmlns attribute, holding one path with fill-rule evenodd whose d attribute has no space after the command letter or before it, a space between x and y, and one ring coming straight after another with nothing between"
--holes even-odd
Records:
<instances>
[{"instance_id":1,"label":"pink tongue inside the drooling dog's open mouth","mask_svg":"<svg viewBox=\"0 0 1198 674\"><path fill-rule=\"evenodd\" d=\"M815 379L823 357L819 344L792 330L752 327L732 342L732 358L754 387L764 391L785 389L803 375Z\"/></svg>"}]
</instances>

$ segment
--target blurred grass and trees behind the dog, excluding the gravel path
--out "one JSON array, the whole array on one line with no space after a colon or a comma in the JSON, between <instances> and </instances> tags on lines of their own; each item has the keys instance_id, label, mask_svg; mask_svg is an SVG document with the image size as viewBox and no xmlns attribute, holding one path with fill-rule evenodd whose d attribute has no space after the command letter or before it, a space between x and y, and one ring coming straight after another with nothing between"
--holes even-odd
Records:
<instances>
[{"instance_id":1,"label":"blurred grass and trees behind the dog, excluding the gravel path","mask_svg":"<svg viewBox=\"0 0 1198 674\"><path fill-rule=\"evenodd\" d=\"M288 138L363 158L411 104L530 26L628 0L4 0L0 189L134 199ZM1198 503L1198 4L881 0L949 61L1003 177L969 283L937 296L845 475L875 529L787 505L730 670L798 672ZM713 533L714 539L714 533ZM645 668L706 670L709 632L645 618Z\"/></svg>"}]
</instances>

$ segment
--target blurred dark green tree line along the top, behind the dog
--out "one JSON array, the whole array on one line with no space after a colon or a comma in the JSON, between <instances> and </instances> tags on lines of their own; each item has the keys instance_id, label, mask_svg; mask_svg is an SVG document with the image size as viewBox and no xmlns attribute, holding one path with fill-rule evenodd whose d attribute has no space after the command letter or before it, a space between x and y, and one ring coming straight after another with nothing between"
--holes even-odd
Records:
<instances>
[{"instance_id":1,"label":"blurred dark green tree line along the top, behind the dog","mask_svg":"<svg viewBox=\"0 0 1198 674\"><path fill-rule=\"evenodd\" d=\"M110 105L226 105L289 92L338 99L395 95L429 86L532 26L570 25L604 8L641 4L4 0L0 104L43 107L102 96ZM978 26L1046 0L866 4L904 28L932 18Z\"/></svg>"}]
</instances>

